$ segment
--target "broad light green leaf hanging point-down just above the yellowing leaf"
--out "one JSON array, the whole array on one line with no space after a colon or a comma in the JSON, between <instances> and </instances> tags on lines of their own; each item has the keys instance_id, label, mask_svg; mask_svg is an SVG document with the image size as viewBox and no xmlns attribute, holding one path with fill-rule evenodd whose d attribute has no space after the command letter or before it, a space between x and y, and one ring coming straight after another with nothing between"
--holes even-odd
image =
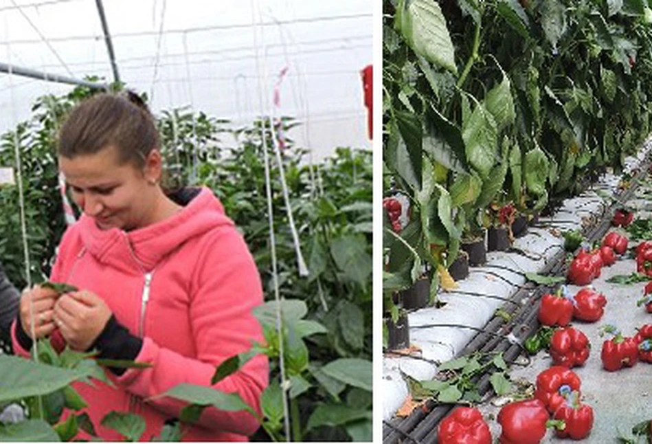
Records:
<instances>
[{"instance_id":1,"label":"broad light green leaf hanging point-down just above the yellowing leaf","mask_svg":"<svg viewBox=\"0 0 652 444\"><path fill-rule=\"evenodd\" d=\"M475 105L469 121L464 124L462 140L467 162L486 179L496 159L497 129L492 115L482 104Z\"/></svg>"}]
</instances>

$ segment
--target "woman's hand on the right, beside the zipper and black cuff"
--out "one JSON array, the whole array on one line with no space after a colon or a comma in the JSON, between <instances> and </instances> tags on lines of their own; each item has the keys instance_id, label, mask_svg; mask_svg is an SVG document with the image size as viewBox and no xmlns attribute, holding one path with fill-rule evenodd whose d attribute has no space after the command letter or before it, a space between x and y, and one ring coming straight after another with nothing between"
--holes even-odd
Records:
<instances>
[{"instance_id":1,"label":"woman's hand on the right, beside the zipper and black cuff","mask_svg":"<svg viewBox=\"0 0 652 444\"><path fill-rule=\"evenodd\" d=\"M87 351L112 314L102 298L87 290L66 293L54 305L54 322L75 351Z\"/></svg>"}]
</instances>

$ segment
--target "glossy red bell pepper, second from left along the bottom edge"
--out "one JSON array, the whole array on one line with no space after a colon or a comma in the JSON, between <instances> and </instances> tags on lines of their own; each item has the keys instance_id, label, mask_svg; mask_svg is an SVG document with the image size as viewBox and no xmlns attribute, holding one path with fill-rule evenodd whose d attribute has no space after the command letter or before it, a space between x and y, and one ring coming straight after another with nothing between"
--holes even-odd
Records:
<instances>
[{"instance_id":1,"label":"glossy red bell pepper, second from left along the bottom edge","mask_svg":"<svg viewBox=\"0 0 652 444\"><path fill-rule=\"evenodd\" d=\"M498 412L500 444L539 444L550 414L539 399L508 403Z\"/></svg>"}]
</instances>

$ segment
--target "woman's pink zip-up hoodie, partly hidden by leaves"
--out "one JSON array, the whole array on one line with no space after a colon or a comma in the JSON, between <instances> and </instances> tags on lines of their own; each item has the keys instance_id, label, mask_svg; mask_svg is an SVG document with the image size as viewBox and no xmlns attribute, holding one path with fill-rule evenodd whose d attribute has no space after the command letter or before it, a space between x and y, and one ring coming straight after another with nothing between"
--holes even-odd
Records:
<instances>
[{"instance_id":1,"label":"woman's pink zip-up hoodie, partly hidden by leaves","mask_svg":"<svg viewBox=\"0 0 652 444\"><path fill-rule=\"evenodd\" d=\"M115 388L96 381L95 388L73 384L89 404L85 411L96 432L106 441L121 439L100 425L113 410L142 415L147 428L141 439L149 441L164 421L178 418L187 403L144 399L181 383L210 386L218 364L263 340L251 313L263 300L258 269L208 188L173 217L132 232L102 231L93 219L82 216L65 232L59 248L51 279L103 298L117 321L143 338L136 361L152 364L118 377L106 370ZM14 350L29 356L16 340L15 328L14 322ZM58 331L53 336L61 338ZM258 355L214 387L238 393L260 413L268 373L267 357ZM211 407L196 425L183 428L183 441L247 441L257 428L258 421L248 412Z\"/></svg>"}]
</instances>

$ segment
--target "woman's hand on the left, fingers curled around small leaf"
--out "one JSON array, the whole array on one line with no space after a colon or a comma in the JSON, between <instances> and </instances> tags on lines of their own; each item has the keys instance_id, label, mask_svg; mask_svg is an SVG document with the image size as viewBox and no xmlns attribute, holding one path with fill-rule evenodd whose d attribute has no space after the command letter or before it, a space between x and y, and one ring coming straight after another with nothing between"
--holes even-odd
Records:
<instances>
[{"instance_id":1,"label":"woman's hand on the left, fingers curled around small leaf","mask_svg":"<svg viewBox=\"0 0 652 444\"><path fill-rule=\"evenodd\" d=\"M38 285L23 290L20 305L21 325L32 340L41 339L54 331L53 309L58 296L53 289L41 288Z\"/></svg>"}]
</instances>

